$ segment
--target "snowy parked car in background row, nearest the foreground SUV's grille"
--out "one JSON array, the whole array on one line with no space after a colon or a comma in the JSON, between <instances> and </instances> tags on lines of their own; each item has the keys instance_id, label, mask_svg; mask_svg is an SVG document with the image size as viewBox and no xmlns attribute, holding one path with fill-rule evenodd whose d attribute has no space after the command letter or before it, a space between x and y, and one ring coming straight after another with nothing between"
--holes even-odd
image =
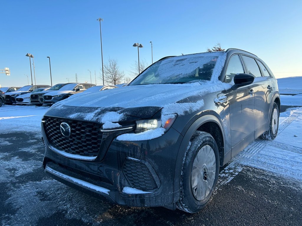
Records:
<instances>
[{"instance_id":1,"label":"snowy parked car in background row, nearest the foreground SUV's grille","mask_svg":"<svg viewBox=\"0 0 302 226\"><path fill-rule=\"evenodd\" d=\"M73 94L82 93L84 90L92 86L95 85L89 83L69 83L59 90L44 94L43 103L46 105L53 105L54 103L64 100Z\"/></svg>"}]
</instances>

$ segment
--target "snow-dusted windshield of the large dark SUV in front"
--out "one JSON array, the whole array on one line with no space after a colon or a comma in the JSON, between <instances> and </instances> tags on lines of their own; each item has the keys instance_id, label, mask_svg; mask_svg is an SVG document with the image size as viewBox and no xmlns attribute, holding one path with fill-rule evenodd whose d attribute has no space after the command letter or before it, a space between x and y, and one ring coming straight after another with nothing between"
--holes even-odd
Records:
<instances>
[{"instance_id":1,"label":"snow-dusted windshield of the large dark SUV in front","mask_svg":"<svg viewBox=\"0 0 302 226\"><path fill-rule=\"evenodd\" d=\"M130 86L211 80L218 56L217 53L198 53L163 59L147 68Z\"/></svg>"}]
</instances>

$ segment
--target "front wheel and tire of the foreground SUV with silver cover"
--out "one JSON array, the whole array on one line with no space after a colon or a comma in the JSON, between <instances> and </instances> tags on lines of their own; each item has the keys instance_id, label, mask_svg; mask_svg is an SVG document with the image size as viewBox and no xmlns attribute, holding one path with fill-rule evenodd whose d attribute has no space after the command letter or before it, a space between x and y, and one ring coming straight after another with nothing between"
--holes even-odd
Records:
<instances>
[{"instance_id":1,"label":"front wheel and tire of the foreground SUV with silver cover","mask_svg":"<svg viewBox=\"0 0 302 226\"><path fill-rule=\"evenodd\" d=\"M176 207L196 213L212 199L219 174L219 151L214 138L196 131L185 153Z\"/></svg>"}]
</instances>

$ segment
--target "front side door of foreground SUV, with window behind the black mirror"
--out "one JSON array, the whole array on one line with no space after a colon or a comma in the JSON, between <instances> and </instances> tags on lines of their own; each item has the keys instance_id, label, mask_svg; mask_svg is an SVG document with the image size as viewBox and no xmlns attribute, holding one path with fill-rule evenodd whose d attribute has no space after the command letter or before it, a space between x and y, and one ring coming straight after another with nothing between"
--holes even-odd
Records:
<instances>
[{"instance_id":1,"label":"front side door of foreground SUV, with window behind the black mirror","mask_svg":"<svg viewBox=\"0 0 302 226\"><path fill-rule=\"evenodd\" d=\"M224 82L234 84L233 78L238 73L245 73L240 55L231 56ZM253 84L226 90L230 111L230 134L232 158L247 144L254 140L254 94Z\"/></svg>"}]
</instances>

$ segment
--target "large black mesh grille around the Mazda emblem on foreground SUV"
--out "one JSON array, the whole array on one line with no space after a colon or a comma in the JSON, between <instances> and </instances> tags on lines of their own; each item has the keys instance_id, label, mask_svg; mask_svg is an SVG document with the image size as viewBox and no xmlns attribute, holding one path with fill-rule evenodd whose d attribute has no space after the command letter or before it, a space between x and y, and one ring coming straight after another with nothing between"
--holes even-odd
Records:
<instances>
[{"instance_id":1,"label":"large black mesh grille around the Mazda emblem on foreground SUV","mask_svg":"<svg viewBox=\"0 0 302 226\"><path fill-rule=\"evenodd\" d=\"M47 140L58 150L81 156L96 157L101 147L103 133L101 124L73 119L44 117ZM69 124L71 135L64 137L60 130L62 122Z\"/></svg>"}]
</instances>

